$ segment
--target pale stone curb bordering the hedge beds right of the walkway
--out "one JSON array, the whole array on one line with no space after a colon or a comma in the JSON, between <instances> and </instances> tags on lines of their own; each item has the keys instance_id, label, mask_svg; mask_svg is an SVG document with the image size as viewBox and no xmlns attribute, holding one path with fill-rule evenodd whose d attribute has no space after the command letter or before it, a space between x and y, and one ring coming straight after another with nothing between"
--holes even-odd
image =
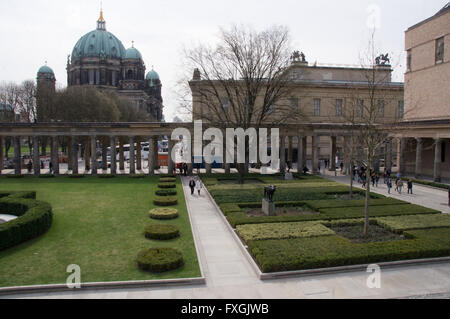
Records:
<instances>
[{"instance_id":1,"label":"pale stone curb bordering the hedge beds right of the walkway","mask_svg":"<svg viewBox=\"0 0 450 319\"><path fill-rule=\"evenodd\" d=\"M415 266L415 265L427 265L427 264L434 264L434 263L448 263L450 262L450 257L438 257L438 258L423 258L423 259L411 259L411 260L399 260L399 261L389 261L389 262L382 262L382 263L370 263L370 264L362 264L362 265L349 265L349 266L340 266L340 267L330 267L330 268L319 268L319 269L307 269L307 270L295 270L295 271L284 271L284 272L274 272L274 273L263 273L259 266L256 264L253 257L250 255L247 248L244 246L242 240L239 238L239 236L236 234L235 229L233 229L226 219L226 217L223 215L220 207L217 205L214 198L209 193L208 189L205 187L206 193L208 194L209 198L213 202L216 209L219 211L219 214L221 215L222 220L226 223L228 230L232 232L234 239L238 243L241 251L244 253L245 257L247 258L248 262L251 264L253 270L255 271L256 275L261 280L273 280L273 279L288 279L288 278L296 278L301 276L312 276L312 275L326 275L326 274L336 274L336 273L342 273L342 272L353 272L353 271L366 271L367 266L376 264L380 266L380 268L394 268L394 267L401 267L401 266Z\"/></svg>"}]
</instances>

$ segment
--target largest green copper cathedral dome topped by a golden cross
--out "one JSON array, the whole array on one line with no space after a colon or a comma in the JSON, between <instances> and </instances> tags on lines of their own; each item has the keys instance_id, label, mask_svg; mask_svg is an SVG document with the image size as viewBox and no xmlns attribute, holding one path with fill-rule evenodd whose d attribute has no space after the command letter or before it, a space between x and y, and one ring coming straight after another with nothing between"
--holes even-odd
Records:
<instances>
[{"instance_id":1,"label":"largest green copper cathedral dome topped by a golden cross","mask_svg":"<svg viewBox=\"0 0 450 319\"><path fill-rule=\"evenodd\" d=\"M112 33L106 31L103 12L97 21L97 29L87 33L78 40L72 51L72 59L98 57L109 59L123 59L125 47Z\"/></svg>"}]
</instances>

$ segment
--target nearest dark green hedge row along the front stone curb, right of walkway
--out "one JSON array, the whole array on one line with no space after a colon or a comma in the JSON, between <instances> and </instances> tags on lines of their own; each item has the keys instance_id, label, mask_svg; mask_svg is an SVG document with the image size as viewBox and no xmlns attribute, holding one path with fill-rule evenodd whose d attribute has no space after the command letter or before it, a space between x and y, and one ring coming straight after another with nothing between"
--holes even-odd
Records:
<instances>
[{"instance_id":1,"label":"nearest dark green hedge row along the front stone curb, right of walkway","mask_svg":"<svg viewBox=\"0 0 450 319\"><path fill-rule=\"evenodd\" d=\"M414 230L407 239L353 244L340 236L253 240L249 250L263 272L368 264L450 255L450 228Z\"/></svg>"}]
</instances>

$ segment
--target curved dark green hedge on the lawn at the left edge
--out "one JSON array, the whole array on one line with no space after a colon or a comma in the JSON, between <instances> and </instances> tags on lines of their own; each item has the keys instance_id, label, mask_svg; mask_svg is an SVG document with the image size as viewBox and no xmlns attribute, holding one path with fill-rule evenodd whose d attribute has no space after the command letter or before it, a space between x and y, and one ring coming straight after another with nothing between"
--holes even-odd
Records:
<instances>
[{"instance_id":1,"label":"curved dark green hedge on the lawn at the left edge","mask_svg":"<svg viewBox=\"0 0 450 319\"><path fill-rule=\"evenodd\" d=\"M0 251L36 238L51 227L50 204L34 198L35 192L16 192L0 198L0 212L18 216L0 225Z\"/></svg>"}]
</instances>

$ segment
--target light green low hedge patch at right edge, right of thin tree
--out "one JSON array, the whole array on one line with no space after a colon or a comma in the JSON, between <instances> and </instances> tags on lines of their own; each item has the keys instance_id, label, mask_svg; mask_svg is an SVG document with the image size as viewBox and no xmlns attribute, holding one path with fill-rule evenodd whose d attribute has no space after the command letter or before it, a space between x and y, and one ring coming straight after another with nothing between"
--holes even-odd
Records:
<instances>
[{"instance_id":1,"label":"light green low hedge patch at right edge, right of thin tree","mask_svg":"<svg viewBox=\"0 0 450 319\"><path fill-rule=\"evenodd\" d=\"M378 217L376 221L378 225L396 233L412 229L450 227L450 215L445 214Z\"/></svg>"}]
</instances>

